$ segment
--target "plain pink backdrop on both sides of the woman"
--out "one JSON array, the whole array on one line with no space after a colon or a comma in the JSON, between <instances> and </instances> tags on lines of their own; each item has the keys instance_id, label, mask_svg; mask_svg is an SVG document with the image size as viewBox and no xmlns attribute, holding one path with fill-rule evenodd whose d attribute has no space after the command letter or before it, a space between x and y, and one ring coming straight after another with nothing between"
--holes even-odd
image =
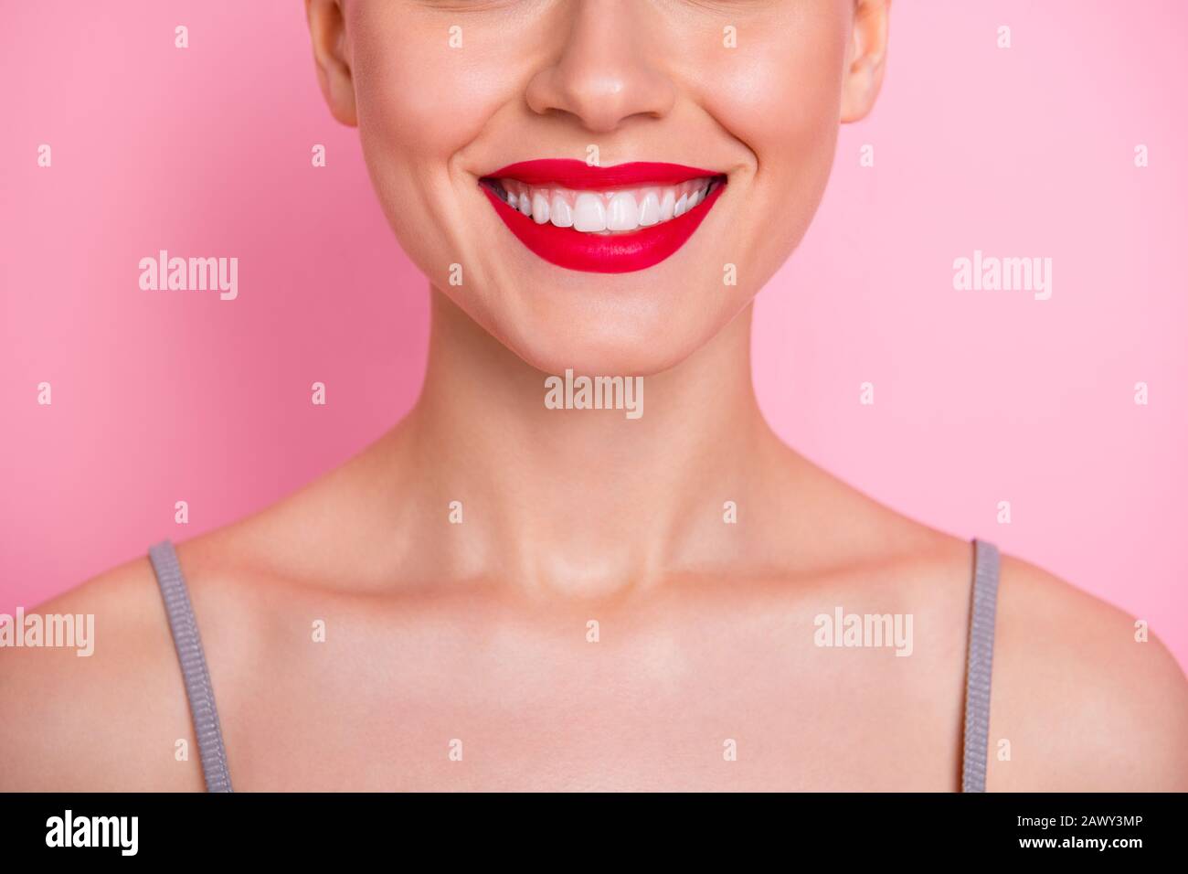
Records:
<instances>
[{"instance_id":1,"label":"plain pink backdrop on both sides of the woman","mask_svg":"<svg viewBox=\"0 0 1188 874\"><path fill-rule=\"evenodd\" d=\"M302 8L6 8L0 611L271 503L412 403L425 283L321 101ZM1176 0L899 0L881 102L843 130L814 227L760 295L754 351L794 446L1149 620L1181 664L1186 29ZM239 257L239 300L141 291L137 263L159 249ZM953 259L975 249L1053 258L1051 300L955 291Z\"/></svg>"}]
</instances>

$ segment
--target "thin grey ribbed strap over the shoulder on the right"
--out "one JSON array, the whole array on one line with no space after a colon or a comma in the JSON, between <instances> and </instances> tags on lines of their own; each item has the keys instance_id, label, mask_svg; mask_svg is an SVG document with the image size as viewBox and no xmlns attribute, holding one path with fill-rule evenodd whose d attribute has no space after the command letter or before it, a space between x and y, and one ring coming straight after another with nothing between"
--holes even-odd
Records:
<instances>
[{"instance_id":1,"label":"thin grey ribbed strap over the shoulder on the right","mask_svg":"<svg viewBox=\"0 0 1188 874\"><path fill-rule=\"evenodd\" d=\"M975 540L973 549L961 791L985 792L986 759L990 755L990 677L994 666L994 615L998 606L998 547Z\"/></svg>"}]
</instances>

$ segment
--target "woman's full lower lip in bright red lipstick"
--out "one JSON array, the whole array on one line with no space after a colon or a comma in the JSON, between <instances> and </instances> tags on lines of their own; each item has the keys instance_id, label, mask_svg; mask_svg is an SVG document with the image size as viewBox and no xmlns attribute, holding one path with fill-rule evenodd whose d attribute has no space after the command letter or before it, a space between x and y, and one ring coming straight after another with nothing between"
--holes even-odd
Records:
<instances>
[{"instance_id":1,"label":"woman's full lower lip in bright red lipstick","mask_svg":"<svg viewBox=\"0 0 1188 874\"><path fill-rule=\"evenodd\" d=\"M512 209L486 186L480 188L517 239L550 264L588 273L630 273L655 266L681 249L709 214L726 183L723 181L714 188L706 200L684 215L614 234L583 233L548 221L537 225L532 216Z\"/></svg>"}]
</instances>

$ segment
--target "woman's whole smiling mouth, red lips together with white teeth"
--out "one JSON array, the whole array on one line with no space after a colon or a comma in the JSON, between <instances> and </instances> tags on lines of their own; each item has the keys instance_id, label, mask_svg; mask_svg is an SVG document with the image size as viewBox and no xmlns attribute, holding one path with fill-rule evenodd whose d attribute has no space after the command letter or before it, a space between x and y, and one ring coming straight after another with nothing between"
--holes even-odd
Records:
<instances>
[{"instance_id":1,"label":"woman's whole smiling mouth, red lips together with white teeth","mask_svg":"<svg viewBox=\"0 0 1188 874\"><path fill-rule=\"evenodd\" d=\"M619 273L680 250L726 187L726 175L681 164L588 166L544 159L479 180L497 214L531 252L557 266Z\"/></svg>"}]
</instances>

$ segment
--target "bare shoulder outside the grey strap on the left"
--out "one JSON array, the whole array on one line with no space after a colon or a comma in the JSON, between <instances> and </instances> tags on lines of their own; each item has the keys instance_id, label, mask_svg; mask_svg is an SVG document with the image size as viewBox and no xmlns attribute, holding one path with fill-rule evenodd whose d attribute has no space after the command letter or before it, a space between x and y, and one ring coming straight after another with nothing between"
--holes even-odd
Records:
<instances>
[{"instance_id":1,"label":"bare shoulder outside the grey strap on the left","mask_svg":"<svg viewBox=\"0 0 1188 874\"><path fill-rule=\"evenodd\" d=\"M25 612L29 629L72 617L75 646L0 648L0 790L202 787L196 755L175 756L192 730L147 557Z\"/></svg>"}]
</instances>

